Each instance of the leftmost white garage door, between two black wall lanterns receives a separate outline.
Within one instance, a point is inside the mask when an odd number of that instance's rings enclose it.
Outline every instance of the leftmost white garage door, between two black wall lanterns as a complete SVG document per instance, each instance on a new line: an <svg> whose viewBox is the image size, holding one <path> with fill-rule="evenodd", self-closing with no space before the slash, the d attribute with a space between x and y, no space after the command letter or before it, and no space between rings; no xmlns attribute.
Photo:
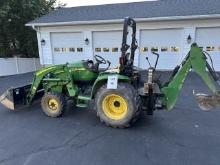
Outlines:
<svg viewBox="0 0 220 165"><path fill-rule="evenodd" d="M54 64L84 59L82 33L51 33Z"/></svg>

